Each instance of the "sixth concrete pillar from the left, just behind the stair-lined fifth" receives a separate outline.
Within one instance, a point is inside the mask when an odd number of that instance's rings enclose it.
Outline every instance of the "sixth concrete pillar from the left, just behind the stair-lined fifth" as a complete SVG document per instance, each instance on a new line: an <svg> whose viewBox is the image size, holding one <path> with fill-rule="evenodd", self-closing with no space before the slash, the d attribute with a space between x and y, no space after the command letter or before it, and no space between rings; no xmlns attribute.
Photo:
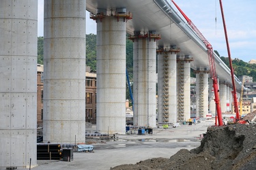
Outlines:
<svg viewBox="0 0 256 170"><path fill-rule="evenodd" d="M177 57L177 121L190 119L190 56Z"/></svg>

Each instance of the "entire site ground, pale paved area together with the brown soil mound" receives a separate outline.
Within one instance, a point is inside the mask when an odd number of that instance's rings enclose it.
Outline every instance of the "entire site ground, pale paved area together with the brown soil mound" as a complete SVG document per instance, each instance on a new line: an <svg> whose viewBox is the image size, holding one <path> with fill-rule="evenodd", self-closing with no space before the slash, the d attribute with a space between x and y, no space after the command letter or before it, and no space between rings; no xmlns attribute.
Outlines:
<svg viewBox="0 0 256 170"><path fill-rule="evenodd" d="M207 135L202 137L206 131L208 131ZM87 141L94 146L94 152L74 152L74 160L70 162L38 160L38 167L33 169L144 170L255 169L256 167L254 124L216 127L214 120L205 120L176 128L159 127L153 129L152 135L117 135L117 138L109 141L89 139Z"/></svg>

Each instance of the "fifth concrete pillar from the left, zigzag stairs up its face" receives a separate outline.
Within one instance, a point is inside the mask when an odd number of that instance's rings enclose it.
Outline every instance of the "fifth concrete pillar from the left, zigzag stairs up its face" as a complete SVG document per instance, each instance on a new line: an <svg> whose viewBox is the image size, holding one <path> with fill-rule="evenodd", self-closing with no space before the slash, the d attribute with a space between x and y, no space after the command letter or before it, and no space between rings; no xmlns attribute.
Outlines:
<svg viewBox="0 0 256 170"><path fill-rule="evenodd" d="M175 46L158 49L158 122L177 122L177 61Z"/></svg>

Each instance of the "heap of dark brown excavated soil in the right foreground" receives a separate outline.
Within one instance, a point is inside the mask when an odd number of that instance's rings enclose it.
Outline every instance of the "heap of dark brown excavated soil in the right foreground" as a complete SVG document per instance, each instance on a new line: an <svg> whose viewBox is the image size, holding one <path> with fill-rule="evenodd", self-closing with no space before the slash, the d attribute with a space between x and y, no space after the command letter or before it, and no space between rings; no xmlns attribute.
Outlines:
<svg viewBox="0 0 256 170"><path fill-rule="evenodd" d="M171 158L151 158L111 168L122 169L256 169L256 125L211 126L198 148L182 149Z"/></svg>

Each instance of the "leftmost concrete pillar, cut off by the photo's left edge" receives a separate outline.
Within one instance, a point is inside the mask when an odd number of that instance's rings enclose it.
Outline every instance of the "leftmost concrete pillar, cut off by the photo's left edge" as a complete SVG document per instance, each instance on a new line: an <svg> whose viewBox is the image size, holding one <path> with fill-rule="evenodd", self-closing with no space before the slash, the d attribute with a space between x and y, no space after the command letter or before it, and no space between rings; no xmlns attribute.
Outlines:
<svg viewBox="0 0 256 170"><path fill-rule="evenodd" d="M0 2L0 169L35 167L38 1Z"/></svg>

